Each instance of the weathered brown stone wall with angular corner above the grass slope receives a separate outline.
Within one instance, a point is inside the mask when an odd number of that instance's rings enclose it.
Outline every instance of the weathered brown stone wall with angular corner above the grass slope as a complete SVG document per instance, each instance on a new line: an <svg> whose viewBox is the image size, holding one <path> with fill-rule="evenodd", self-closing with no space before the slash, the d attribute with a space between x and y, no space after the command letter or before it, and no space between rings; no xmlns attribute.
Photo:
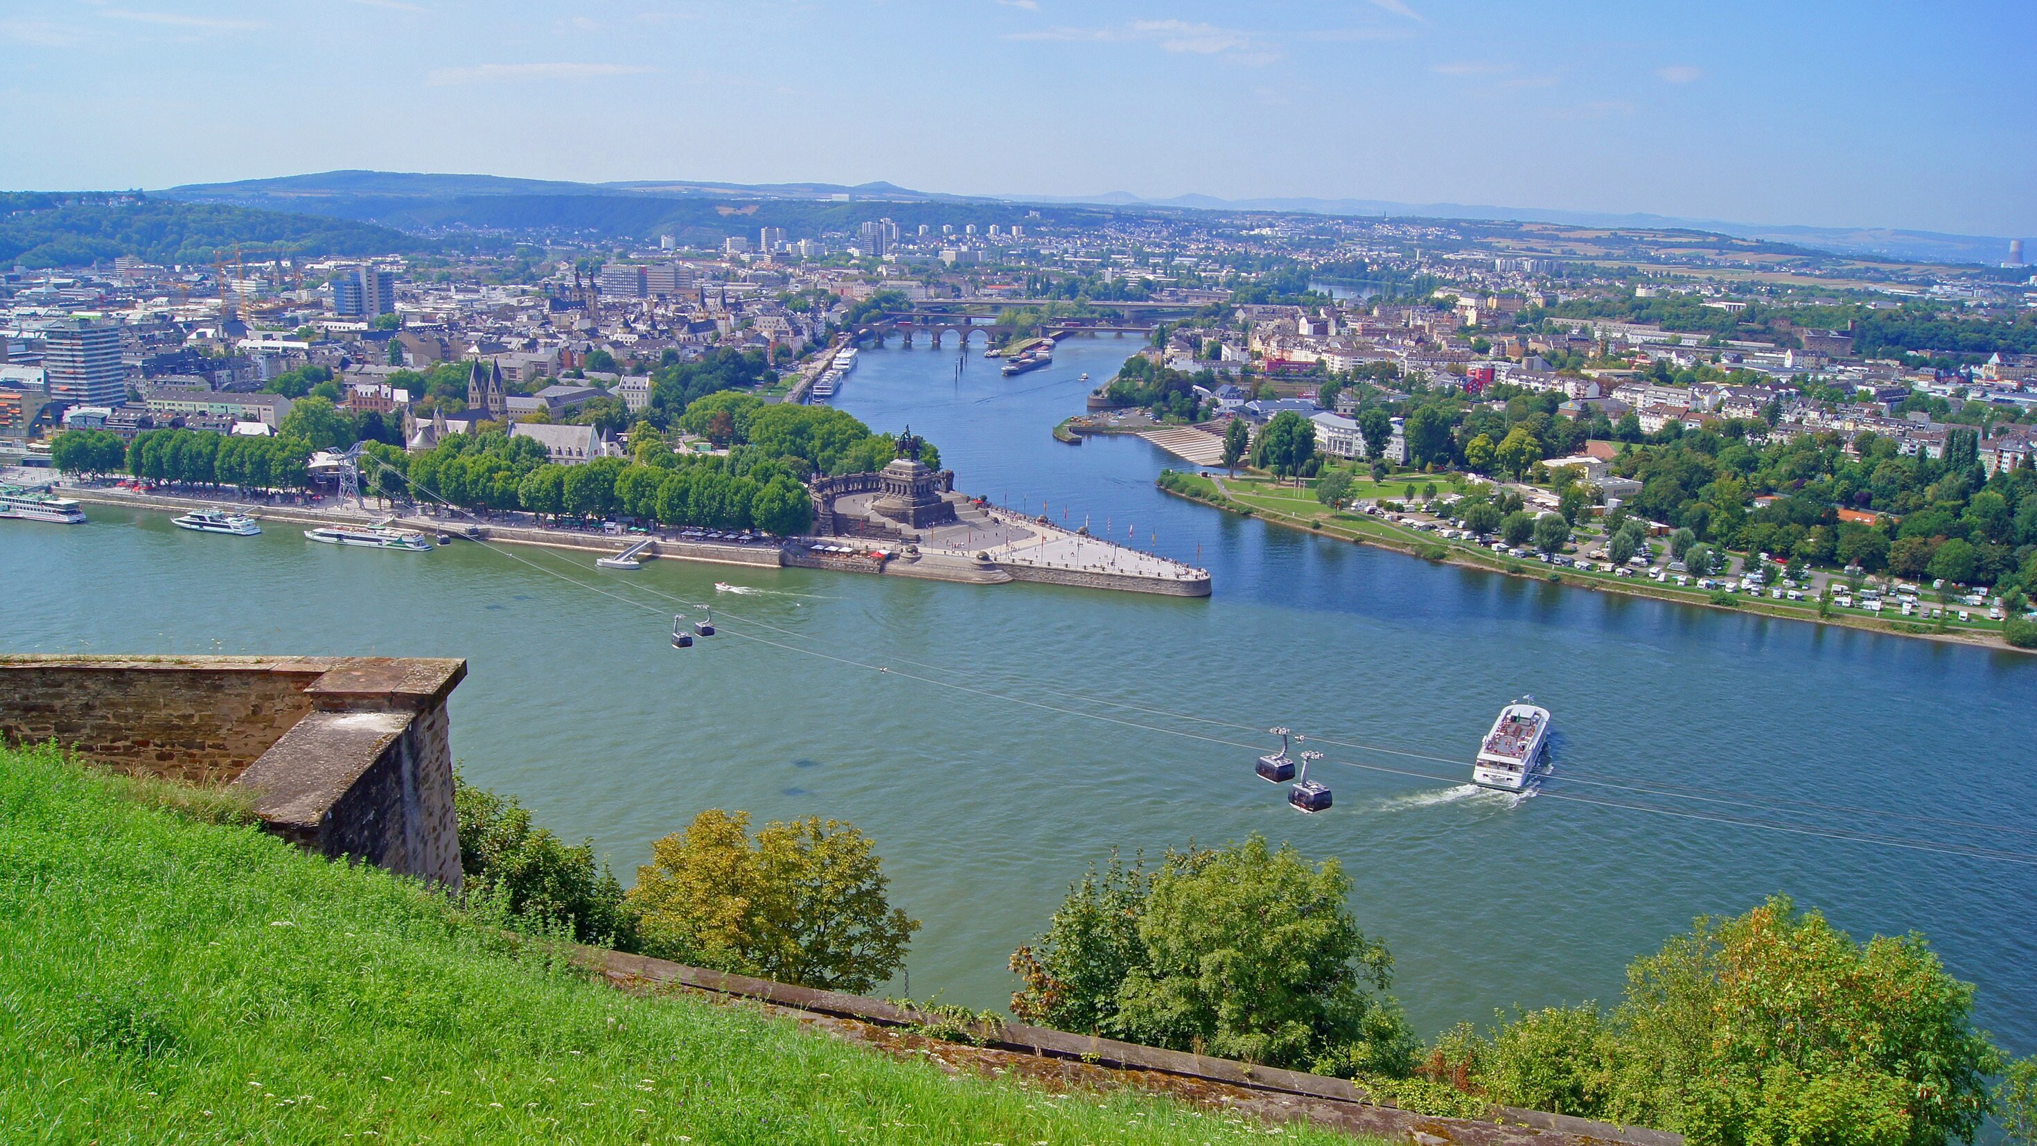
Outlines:
<svg viewBox="0 0 2037 1146"><path fill-rule="evenodd" d="M269 830L460 885L446 698L462 660L0 655L0 737L255 798Z"/></svg>

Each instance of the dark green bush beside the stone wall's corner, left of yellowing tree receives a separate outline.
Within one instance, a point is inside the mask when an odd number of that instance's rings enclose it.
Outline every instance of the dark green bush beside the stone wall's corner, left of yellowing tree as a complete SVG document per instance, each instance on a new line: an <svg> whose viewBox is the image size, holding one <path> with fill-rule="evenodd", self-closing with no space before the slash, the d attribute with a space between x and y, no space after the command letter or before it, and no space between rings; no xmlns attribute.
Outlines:
<svg viewBox="0 0 2037 1146"><path fill-rule="evenodd" d="M513 796L475 788L458 773L452 784L466 896L501 896L513 918L562 924L581 942L631 947L623 890L595 863L593 841L570 847L534 826Z"/></svg>

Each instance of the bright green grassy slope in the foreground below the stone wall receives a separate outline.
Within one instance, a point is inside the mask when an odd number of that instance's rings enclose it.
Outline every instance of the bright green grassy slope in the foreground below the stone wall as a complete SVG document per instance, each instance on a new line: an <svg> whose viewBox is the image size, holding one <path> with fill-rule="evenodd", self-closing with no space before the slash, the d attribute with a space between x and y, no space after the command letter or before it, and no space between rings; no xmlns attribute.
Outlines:
<svg viewBox="0 0 2037 1146"><path fill-rule="evenodd" d="M228 800L0 749L4 1142L1230 1142L613 991ZM1287 1128L1302 1142L1348 1142Z"/></svg>

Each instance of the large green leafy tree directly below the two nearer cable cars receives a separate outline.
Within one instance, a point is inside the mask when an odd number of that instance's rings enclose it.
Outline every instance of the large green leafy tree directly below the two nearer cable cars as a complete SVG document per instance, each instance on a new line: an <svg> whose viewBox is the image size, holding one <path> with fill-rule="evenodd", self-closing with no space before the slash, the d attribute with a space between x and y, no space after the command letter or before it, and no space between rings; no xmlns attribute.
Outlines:
<svg viewBox="0 0 2037 1146"><path fill-rule="evenodd" d="M1406 1073L1393 959L1348 896L1334 859L1310 865L1259 835L1169 851L1151 875L1112 863L1012 955L1012 1014L1249 1063Z"/></svg>

